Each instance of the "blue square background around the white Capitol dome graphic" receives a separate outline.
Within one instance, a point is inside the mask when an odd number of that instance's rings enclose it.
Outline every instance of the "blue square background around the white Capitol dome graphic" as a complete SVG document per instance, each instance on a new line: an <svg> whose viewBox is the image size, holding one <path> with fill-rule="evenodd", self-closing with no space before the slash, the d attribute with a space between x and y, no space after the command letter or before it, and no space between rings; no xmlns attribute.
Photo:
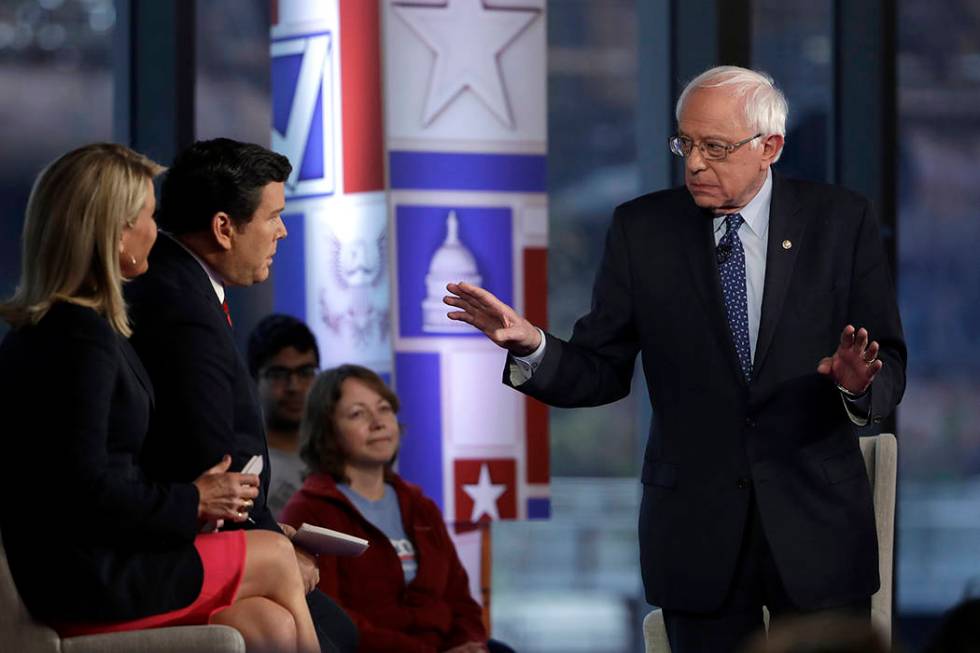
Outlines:
<svg viewBox="0 0 980 653"><path fill-rule="evenodd" d="M483 287L505 304L514 301L511 210L501 207L398 206L398 322L403 337L484 337L476 330L460 335L422 330L425 277L436 250L446 239L446 218L456 212L459 240L476 259ZM453 281L458 281L454 279ZM446 311L451 310L448 306Z"/></svg>

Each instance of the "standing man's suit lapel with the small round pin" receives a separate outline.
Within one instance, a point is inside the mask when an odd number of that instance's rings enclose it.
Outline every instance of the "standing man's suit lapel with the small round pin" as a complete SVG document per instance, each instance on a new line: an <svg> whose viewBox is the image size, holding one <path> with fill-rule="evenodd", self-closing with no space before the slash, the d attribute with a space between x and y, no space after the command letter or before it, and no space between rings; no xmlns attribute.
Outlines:
<svg viewBox="0 0 980 653"><path fill-rule="evenodd" d="M762 292L762 318L753 362L752 377L758 378L772 345L776 326L783 312L786 291L793 278L797 254L803 245L806 225L812 217L801 211L793 186L773 175L772 204L769 208L769 242L766 246L766 279ZM788 247L786 246L788 244Z"/></svg>

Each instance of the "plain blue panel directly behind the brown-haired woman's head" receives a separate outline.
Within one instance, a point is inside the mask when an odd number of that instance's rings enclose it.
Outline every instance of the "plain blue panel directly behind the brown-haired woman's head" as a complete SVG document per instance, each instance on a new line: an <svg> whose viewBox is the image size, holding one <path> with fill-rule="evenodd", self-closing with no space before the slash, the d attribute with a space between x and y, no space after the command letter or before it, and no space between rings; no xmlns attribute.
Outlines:
<svg viewBox="0 0 980 653"><path fill-rule="evenodd" d="M396 353L395 379L401 402L398 421L405 425L398 473L444 509L439 355Z"/></svg>

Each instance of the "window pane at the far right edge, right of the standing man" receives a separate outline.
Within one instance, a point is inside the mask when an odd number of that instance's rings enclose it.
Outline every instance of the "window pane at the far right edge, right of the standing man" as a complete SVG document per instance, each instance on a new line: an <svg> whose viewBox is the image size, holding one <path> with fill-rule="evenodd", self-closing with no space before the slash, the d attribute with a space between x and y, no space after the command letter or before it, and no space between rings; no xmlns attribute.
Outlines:
<svg viewBox="0 0 980 653"><path fill-rule="evenodd" d="M980 593L980 7L899 3L898 604Z"/></svg>

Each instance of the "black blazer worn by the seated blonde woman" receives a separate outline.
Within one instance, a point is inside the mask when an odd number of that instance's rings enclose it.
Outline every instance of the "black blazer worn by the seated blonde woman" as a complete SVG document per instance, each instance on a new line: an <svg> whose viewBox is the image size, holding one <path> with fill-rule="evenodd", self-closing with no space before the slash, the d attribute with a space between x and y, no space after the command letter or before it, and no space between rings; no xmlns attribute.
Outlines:
<svg viewBox="0 0 980 653"><path fill-rule="evenodd" d="M152 402L129 343L90 308L55 304L0 345L0 529L35 616L134 619L197 597L197 490L137 464Z"/></svg>

